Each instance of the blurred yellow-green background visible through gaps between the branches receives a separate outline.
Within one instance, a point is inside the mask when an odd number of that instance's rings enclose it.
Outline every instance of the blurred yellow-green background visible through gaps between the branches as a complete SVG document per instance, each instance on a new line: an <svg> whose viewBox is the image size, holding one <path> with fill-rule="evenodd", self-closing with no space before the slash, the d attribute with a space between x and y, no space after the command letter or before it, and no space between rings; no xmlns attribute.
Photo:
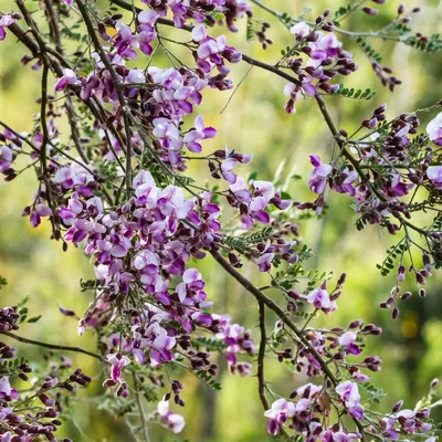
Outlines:
<svg viewBox="0 0 442 442"><path fill-rule="evenodd" d="M14 10L11 0L1 0L0 3L4 11ZM32 9L32 2L29 3ZM273 8L294 17L301 13L304 3L309 6L311 2L269 1ZM307 18L314 19L325 8L339 4L335 0L317 0L312 4L313 11ZM361 13L355 14L346 21L346 28L379 29L394 17L398 4L398 1L390 0L380 8L381 13L376 19ZM417 1L409 6L422 7L422 12L413 20L414 29L430 35L440 30L442 2ZM103 2L103 8L106 7ZM229 34L229 43L254 57L274 63L280 50L291 43L291 36L281 23L271 19L264 11L254 9L256 19L271 22L269 36L274 44L264 51L259 42L246 42L244 22L240 24L236 34ZM43 22L41 25L44 28ZM170 30L165 31L170 34ZM179 31L172 33L178 38L186 38ZM355 48L354 42L349 39L343 41L346 48L354 52L354 57L360 66L356 74L344 78L346 86L370 87L378 93L370 102L327 98L338 127L346 127L351 133L382 103L388 103L387 114L392 117L403 110L429 106L442 97L441 54L428 55L406 45L372 40L372 45L383 55L383 63L390 65L403 82L397 92L391 94L380 86L370 63ZM32 129L33 116L39 110L34 101L39 97L40 74L29 66L21 66L20 59L25 53L11 34L0 44L0 119L19 131ZM177 53L180 53L179 50ZM139 63L138 61L138 66L143 67ZM155 63L167 65L161 54ZM231 76L235 84L244 77L248 70L246 64L232 66ZM219 135L210 144L207 143L204 149L210 152L227 145L242 152L253 152L254 161L249 168L243 166L242 172L248 175L256 171L260 179L272 180L275 170L278 170L282 180L293 173L301 175L302 181L287 180L286 190L296 200L308 200L313 198L306 185L311 171L308 154L315 152L327 158L333 141L314 101L298 103L295 115L284 113L284 84L283 80L254 67L222 114L220 113L231 92L206 92L200 109L206 115L206 123L217 127ZM427 124L433 116L422 115L422 123ZM207 173L201 168L194 168L192 172L201 182L207 179ZM62 305L80 314L91 302L91 294L80 291L80 278L87 280L92 275L87 259L73 248L63 253L61 244L49 241L48 223L34 230L21 218L23 207L31 201L35 188L34 178L33 172L29 171L11 183L0 181L0 274L8 280L8 286L0 292L1 305L17 304L24 295L30 295L29 307L32 315L43 315L44 320L24 325L21 335L94 348L95 337L87 333L80 338L75 320L59 313L59 305ZM376 227L367 228L361 233L357 232L354 225L356 218L347 196L330 194L328 202L330 209L327 217L299 222L302 236L315 251L309 265L334 271L337 275L343 271L348 274L345 294L339 299L340 308L327 318L327 325L346 324L361 317L367 323L373 322L382 326L382 336L369 339L367 348L367 352L377 354L383 360L382 371L373 376L373 381L389 392L380 408L388 409L400 398L404 399L407 406L413 407L427 392L429 382L435 377L442 377L441 275L428 283L427 298L413 296L402 305L401 316L393 323L389 312L378 307L379 303L387 298L393 276L382 277L376 269L376 263L383 260L386 249L392 244L391 239ZM229 313L235 322L245 324L257 336L256 306L253 298L213 262L207 261L196 265L201 269L208 281L208 294L215 302L215 311ZM254 266L245 265L243 271L257 284L265 282L263 275L256 274ZM408 284L409 288L415 292L414 283L410 281ZM267 315L269 330L274 322L275 318ZM35 358L43 357L44 354L42 349L29 346L20 349ZM93 373L96 382L75 399L72 417L63 427L62 433L75 441L131 441L133 438L126 431L124 422L99 409L104 401L101 387L102 367L88 358L70 356L75 365ZM183 399L187 407L180 411L183 411L186 417L186 429L179 436L152 429L154 440L270 440L265 433L263 410L257 400L255 377L231 377L221 364L219 378L222 390L214 392L190 373L182 376L186 381ZM292 391L305 382L302 376L287 372L275 360L267 362L267 378L275 391ZM434 415L441 421L441 412L435 411Z"/></svg>

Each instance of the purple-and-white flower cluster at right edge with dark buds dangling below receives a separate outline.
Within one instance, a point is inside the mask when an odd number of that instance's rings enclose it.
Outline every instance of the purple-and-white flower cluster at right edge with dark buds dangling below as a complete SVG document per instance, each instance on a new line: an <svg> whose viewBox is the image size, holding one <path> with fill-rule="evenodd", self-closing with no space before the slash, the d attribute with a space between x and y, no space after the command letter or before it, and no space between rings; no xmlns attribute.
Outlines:
<svg viewBox="0 0 442 442"><path fill-rule="evenodd" d="M325 192L329 188L354 197L354 207L360 214L360 228L366 223L380 224L392 235L404 231L406 236L398 243L398 249L394 248L402 256L398 265L397 285L389 298L381 304L385 308L393 307L392 316L397 318L399 309L396 299L400 295L399 283L404 281L408 272L412 273L419 286L419 294L423 297L425 291L422 286L432 275L432 267L439 266L441 257L441 235L436 229L427 232L409 220L417 208L428 207L432 210L442 197L442 167L439 166L438 149L428 147L429 141L435 146L440 144L442 114L428 124L427 134L419 135L420 120L415 114L402 114L385 124L386 109L386 105L379 106L370 118L361 123L361 128L367 128L370 133L359 143L352 143L348 139L348 134L341 130L340 136L346 139L340 140L340 146L347 143L352 146L347 151L348 161L323 164L318 156L311 156L313 171L308 186L318 197L314 203L302 203L298 208L314 209L320 214L325 204ZM421 155L421 149L425 150L425 155ZM362 173L361 167L368 172ZM419 188L425 189L428 202L413 201ZM412 245L410 232L413 231L428 239L429 248L421 250L422 267L414 263L409 267L402 264L406 250ZM391 262L387 261L387 264L391 265ZM411 293L406 292L401 299L408 299L410 296Z"/></svg>

